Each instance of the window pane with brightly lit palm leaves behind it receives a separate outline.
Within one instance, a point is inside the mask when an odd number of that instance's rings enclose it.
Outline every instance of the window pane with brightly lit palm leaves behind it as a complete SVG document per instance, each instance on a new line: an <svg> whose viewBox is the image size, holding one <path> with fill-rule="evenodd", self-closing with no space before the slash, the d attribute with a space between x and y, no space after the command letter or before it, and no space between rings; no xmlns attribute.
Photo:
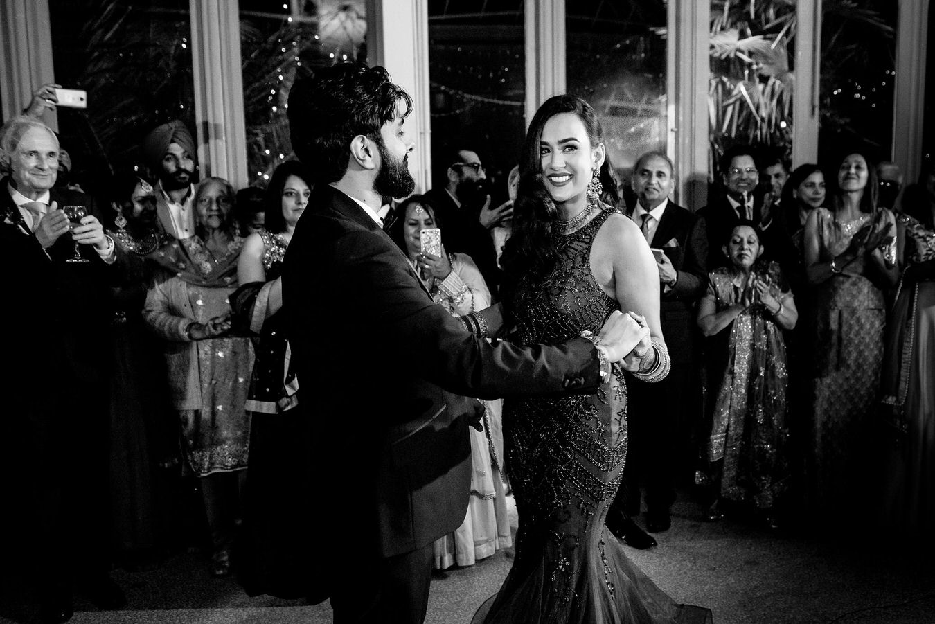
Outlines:
<svg viewBox="0 0 935 624"><path fill-rule="evenodd" d="M794 2L712 0L708 109L710 171L736 144L788 160L792 153Z"/></svg>

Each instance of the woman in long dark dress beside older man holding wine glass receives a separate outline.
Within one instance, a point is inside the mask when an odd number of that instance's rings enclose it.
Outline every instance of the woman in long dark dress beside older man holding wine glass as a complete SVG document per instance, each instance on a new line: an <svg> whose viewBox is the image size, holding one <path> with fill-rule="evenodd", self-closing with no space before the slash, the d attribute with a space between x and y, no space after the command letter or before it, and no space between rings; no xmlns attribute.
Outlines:
<svg viewBox="0 0 935 624"><path fill-rule="evenodd" d="M150 181L124 175L113 183L117 212L108 234L124 252L121 279L111 287L110 493L114 549L128 570L161 558L169 519L160 465L176 465L179 428L165 399L165 362L141 312L158 264L147 256L171 240L155 227Z"/></svg>

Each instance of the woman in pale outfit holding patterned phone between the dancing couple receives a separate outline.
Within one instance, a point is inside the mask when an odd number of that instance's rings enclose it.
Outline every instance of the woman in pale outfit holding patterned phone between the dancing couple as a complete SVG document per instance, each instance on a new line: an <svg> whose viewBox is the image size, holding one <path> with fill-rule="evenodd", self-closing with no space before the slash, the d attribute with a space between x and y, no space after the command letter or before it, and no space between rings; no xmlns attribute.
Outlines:
<svg viewBox="0 0 935 624"><path fill-rule="evenodd" d="M490 306L490 290L481 271L468 254L446 253L442 236L441 254L422 251L422 232L439 227L435 209L424 196L410 196L399 207L401 218L391 231L396 244L409 257L413 268L432 298L453 316L464 316ZM450 228L442 229L442 235ZM419 265L420 254L427 260ZM468 514L461 526L434 545L435 568L474 565L499 548L512 545L510 517L504 494L503 402L483 400L483 431L469 429L471 483Z"/></svg>

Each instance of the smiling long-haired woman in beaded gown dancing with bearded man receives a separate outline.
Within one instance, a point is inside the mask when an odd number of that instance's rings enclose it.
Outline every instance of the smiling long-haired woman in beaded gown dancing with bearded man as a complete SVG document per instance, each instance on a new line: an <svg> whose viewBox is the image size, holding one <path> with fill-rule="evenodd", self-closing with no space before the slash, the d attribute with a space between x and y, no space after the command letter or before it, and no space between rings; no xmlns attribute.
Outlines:
<svg viewBox="0 0 935 624"><path fill-rule="evenodd" d="M556 95L525 139L504 301L522 344L555 343L601 327L615 310L647 327L588 395L512 399L504 438L520 527L516 558L475 622L710 622L673 602L604 526L626 460L626 384L669 371L659 325L659 278L640 228L601 203L600 123L581 98Z"/></svg>

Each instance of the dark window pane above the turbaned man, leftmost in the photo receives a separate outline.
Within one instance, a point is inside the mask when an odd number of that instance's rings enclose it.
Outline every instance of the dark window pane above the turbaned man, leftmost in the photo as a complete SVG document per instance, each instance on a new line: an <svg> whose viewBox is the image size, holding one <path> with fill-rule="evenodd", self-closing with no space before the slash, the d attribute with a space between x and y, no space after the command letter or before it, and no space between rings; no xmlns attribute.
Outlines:
<svg viewBox="0 0 935 624"><path fill-rule="evenodd" d="M139 144L155 125L180 119L194 134L188 0L50 0L49 10L55 80L88 92L87 109L58 109L85 191L141 163Z"/></svg>

